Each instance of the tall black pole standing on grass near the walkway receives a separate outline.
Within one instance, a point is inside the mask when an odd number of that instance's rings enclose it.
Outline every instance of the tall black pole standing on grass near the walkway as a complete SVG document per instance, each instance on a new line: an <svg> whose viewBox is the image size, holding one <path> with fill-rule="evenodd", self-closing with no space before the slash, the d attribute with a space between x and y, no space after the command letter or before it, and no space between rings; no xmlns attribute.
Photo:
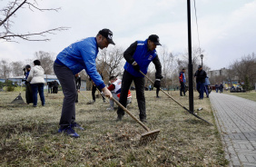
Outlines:
<svg viewBox="0 0 256 167"><path fill-rule="evenodd" d="M192 29L191 29L191 1L187 0L187 15L188 15L188 48L189 48L189 103L190 112L193 113L193 73L192 73Z"/></svg>

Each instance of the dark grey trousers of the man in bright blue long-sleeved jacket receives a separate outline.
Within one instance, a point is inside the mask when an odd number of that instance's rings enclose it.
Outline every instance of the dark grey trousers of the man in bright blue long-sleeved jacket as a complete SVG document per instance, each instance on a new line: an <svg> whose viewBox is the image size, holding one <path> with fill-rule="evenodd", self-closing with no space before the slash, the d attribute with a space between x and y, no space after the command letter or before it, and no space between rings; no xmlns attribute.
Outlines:
<svg viewBox="0 0 256 167"><path fill-rule="evenodd" d="M76 87L74 81L74 74L64 65L54 63L54 73L62 85L64 93L64 103L60 125L62 128L70 126L75 121L75 97Z"/></svg>

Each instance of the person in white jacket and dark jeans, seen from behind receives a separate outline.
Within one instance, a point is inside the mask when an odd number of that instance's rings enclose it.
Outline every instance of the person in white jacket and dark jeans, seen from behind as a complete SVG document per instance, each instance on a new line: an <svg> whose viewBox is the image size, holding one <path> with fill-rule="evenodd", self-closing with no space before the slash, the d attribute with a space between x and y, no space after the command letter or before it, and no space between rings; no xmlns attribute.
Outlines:
<svg viewBox="0 0 256 167"><path fill-rule="evenodd" d="M41 66L39 60L34 60L34 67L30 71L27 82L30 82L32 93L33 93L33 106L37 106L37 93L39 92L39 96L42 102L42 105L45 105L44 100L44 68Z"/></svg>

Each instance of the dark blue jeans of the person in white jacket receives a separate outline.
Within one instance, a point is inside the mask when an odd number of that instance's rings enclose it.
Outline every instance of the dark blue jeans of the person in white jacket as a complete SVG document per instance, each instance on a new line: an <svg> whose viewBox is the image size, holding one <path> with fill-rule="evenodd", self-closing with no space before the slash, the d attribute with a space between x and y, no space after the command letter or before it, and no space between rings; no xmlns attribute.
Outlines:
<svg viewBox="0 0 256 167"><path fill-rule="evenodd" d="M44 83L34 83L34 84L31 84L31 88L32 88L32 93L33 93L33 104L37 105L37 92L39 92L42 105L44 105L45 104L45 100L44 100Z"/></svg>

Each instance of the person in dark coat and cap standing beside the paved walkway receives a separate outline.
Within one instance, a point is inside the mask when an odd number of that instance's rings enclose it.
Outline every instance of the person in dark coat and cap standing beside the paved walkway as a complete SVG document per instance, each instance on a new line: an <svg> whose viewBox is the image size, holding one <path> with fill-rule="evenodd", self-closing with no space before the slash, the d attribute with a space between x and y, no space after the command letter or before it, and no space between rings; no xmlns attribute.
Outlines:
<svg viewBox="0 0 256 167"><path fill-rule="evenodd" d="M196 77L196 89L198 91L199 99L203 99L203 92L204 92L204 83L206 78L206 72L202 70L202 65L198 65L198 70L195 72L194 77Z"/></svg>

